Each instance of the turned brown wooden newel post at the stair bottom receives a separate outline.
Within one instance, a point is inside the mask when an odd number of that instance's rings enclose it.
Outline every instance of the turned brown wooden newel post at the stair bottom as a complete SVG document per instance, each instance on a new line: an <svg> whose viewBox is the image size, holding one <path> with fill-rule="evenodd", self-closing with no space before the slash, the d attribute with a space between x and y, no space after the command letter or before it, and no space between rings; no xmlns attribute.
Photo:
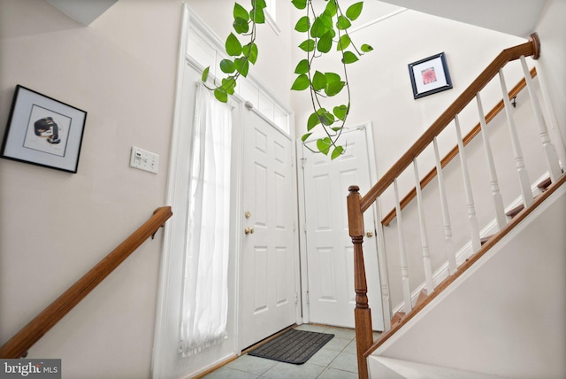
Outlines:
<svg viewBox="0 0 566 379"><path fill-rule="evenodd" d="M354 286L356 287L356 350L357 370L360 379L367 379L368 366L363 354L373 343L371 329L371 309L368 305L368 285L365 280L363 265L363 213L360 205L361 196L358 186L350 186L348 195L348 229L354 244Z"/></svg>

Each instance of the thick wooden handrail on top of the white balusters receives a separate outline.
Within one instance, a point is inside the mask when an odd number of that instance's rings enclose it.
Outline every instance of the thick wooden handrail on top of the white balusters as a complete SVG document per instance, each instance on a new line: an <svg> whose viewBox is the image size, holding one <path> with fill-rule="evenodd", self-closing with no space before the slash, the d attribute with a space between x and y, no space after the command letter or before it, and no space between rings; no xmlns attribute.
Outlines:
<svg viewBox="0 0 566 379"><path fill-rule="evenodd" d="M540 43L538 35L532 34L529 42L516 45L512 48L502 50L501 53L493 59L492 63L486 67L482 73L479 74L475 81L472 81L470 86L465 89L454 103L447 107L440 117L434 121L430 128L428 128L423 135L421 135L416 143L405 152L401 159L394 163L394 165L383 175L371 190L362 197L360 205L362 206L362 213L365 212L375 200L394 182L394 179L407 168L424 149L432 143L434 137L440 134L444 128L448 126L455 115L462 112L468 103L470 103L476 94L486 87L487 83L491 81L501 67L505 66L508 62L524 57L538 58L540 51Z"/></svg>

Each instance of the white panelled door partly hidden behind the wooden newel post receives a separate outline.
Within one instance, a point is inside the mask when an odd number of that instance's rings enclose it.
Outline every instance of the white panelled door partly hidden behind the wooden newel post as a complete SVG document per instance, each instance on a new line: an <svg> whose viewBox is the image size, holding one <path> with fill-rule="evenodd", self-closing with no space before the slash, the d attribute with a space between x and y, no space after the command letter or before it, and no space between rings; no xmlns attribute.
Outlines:
<svg viewBox="0 0 566 379"><path fill-rule="evenodd" d="M368 129L343 133L345 154L330 160L303 147L305 232L309 285L310 322L354 328L354 247L348 236L348 187L361 192L371 188ZM314 143L314 142L313 142ZM375 177L375 175L373 175ZM371 237L363 243L372 326L383 330L378 252L373 213L364 213Z"/></svg>

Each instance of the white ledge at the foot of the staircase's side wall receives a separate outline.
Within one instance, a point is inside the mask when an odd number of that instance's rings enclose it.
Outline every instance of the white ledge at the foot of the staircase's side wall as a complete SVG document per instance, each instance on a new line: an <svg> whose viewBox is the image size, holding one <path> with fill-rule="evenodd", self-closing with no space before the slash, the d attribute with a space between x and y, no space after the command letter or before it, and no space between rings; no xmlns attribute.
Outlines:
<svg viewBox="0 0 566 379"><path fill-rule="evenodd" d="M409 360L371 355L368 370L372 378L387 379L501 379L501 376L477 373L451 367L433 366Z"/></svg>

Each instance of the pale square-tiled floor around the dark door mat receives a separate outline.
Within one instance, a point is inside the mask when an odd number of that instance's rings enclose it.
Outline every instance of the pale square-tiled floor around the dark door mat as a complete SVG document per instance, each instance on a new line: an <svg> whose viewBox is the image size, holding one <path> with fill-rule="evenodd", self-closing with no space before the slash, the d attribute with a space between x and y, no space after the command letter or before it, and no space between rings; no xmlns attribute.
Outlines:
<svg viewBox="0 0 566 379"><path fill-rule="evenodd" d="M354 329L303 324L296 329L330 333L334 337L302 365L244 354L204 376L204 379L357 379Z"/></svg>

